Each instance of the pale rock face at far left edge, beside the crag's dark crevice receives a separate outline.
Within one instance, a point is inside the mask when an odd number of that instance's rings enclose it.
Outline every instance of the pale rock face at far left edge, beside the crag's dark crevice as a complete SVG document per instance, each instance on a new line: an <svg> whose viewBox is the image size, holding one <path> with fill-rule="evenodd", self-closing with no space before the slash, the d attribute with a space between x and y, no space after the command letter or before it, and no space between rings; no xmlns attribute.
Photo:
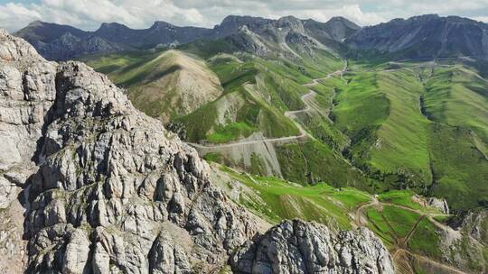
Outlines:
<svg viewBox="0 0 488 274"><path fill-rule="evenodd" d="M55 73L55 63L0 30L0 273L20 273L27 260L20 201L37 170L32 159L54 102Z"/></svg>

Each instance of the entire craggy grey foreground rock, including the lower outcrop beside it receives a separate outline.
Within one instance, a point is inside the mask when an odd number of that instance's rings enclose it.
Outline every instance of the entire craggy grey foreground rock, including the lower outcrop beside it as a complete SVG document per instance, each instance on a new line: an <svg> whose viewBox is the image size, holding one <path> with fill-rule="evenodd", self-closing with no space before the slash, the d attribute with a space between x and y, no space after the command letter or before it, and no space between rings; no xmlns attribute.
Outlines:
<svg viewBox="0 0 488 274"><path fill-rule="evenodd" d="M0 31L0 273L209 273L229 258L242 273L393 272L365 230L286 221L256 236L208 172L107 77Z"/></svg>

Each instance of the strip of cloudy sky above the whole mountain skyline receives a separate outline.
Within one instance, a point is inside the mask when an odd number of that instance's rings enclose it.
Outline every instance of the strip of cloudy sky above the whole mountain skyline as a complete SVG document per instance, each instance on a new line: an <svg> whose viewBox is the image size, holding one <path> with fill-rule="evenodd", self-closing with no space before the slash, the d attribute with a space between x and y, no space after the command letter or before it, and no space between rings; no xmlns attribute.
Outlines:
<svg viewBox="0 0 488 274"><path fill-rule="evenodd" d="M83 30L95 30L103 22L146 28L156 20L212 27L229 14L294 15L323 22L340 15L361 25L440 14L488 23L488 0L0 0L0 27L10 32L34 20L66 23Z"/></svg>

